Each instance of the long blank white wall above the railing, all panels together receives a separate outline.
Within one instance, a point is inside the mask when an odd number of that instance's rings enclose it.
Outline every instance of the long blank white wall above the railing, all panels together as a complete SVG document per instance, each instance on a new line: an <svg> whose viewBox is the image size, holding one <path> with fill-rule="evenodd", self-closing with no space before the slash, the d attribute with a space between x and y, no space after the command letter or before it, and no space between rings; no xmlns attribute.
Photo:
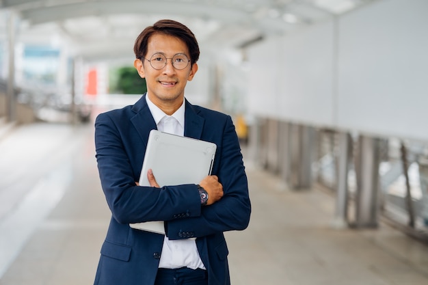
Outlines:
<svg viewBox="0 0 428 285"><path fill-rule="evenodd" d="M427 0L374 1L252 46L249 60L252 114L428 140Z"/></svg>

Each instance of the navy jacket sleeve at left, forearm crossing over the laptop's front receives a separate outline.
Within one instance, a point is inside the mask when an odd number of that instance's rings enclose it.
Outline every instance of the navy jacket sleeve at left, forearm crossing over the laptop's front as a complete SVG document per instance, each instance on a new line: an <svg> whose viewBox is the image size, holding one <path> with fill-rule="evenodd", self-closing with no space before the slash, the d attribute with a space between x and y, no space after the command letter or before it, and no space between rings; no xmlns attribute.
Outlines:
<svg viewBox="0 0 428 285"><path fill-rule="evenodd" d="M137 223L165 221L183 214L185 217L200 216L200 197L195 185L161 189L135 185L135 172L141 165L137 167L137 162L131 162L135 161L132 157L137 152L144 154L145 148L129 120L122 119L107 112L99 115L95 122L98 172L114 219L118 223Z"/></svg>

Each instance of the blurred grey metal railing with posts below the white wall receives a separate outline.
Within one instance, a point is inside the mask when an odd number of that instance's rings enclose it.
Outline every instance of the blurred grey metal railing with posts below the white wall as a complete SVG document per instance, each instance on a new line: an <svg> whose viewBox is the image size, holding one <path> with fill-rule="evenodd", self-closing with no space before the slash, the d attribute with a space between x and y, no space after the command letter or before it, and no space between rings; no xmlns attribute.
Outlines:
<svg viewBox="0 0 428 285"><path fill-rule="evenodd" d="M307 167L302 164L310 162L313 185L328 189L336 200L343 199L342 215L348 226L377 226L377 219L382 219L428 241L428 142L350 135L272 118L256 122L250 127L253 160L280 174L290 188L299 189L295 178L305 176L302 171ZM302 140L304 133L312 133L312 138ZM305 158L302 152L313 155ZM345 181L344 189L340 181ZM359 215L368 217L369 223L360 223Z"/></svg>

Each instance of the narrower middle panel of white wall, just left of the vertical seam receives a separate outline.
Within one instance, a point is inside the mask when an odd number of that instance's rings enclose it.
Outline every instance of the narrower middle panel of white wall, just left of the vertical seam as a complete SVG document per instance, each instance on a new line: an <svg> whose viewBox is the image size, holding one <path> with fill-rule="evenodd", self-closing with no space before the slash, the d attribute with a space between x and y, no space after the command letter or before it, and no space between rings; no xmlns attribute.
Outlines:
<svg viewBox="0 0 428 285"><path fill-rule="evenodd" d="M277 116L331 125L333 109L333 23L311 27L282 41Z"/></svg>

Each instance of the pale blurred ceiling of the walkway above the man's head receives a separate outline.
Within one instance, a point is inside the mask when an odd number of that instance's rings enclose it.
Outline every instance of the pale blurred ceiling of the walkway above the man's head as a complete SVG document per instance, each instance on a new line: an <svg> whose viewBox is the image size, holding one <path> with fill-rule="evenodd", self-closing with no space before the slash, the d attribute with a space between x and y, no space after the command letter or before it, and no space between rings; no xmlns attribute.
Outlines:
<svg viewBox="0 0 428 285"><path fill-rule="evenodd" d="M18 18L16 41L61 46L86 60L133 57L148 25L172 18L195 33L201 49L248 46L315 25L374 0L3 0ZM3 32L6 29L3 29Z"/></svg>

